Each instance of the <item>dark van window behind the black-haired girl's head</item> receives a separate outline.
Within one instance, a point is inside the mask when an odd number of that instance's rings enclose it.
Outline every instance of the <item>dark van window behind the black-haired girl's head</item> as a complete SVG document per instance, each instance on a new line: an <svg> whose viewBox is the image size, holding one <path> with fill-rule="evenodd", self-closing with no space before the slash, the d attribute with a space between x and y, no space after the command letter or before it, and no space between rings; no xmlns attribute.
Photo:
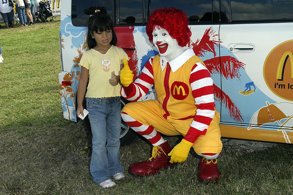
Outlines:
<svg viewBox="0 0 293 195"><path fill-rule="evenodd" d="M113 19L113 1L103 0L72 0L71 22L74 26L86 26L86 21L96 7L105 7L107 13Z"/></svg>

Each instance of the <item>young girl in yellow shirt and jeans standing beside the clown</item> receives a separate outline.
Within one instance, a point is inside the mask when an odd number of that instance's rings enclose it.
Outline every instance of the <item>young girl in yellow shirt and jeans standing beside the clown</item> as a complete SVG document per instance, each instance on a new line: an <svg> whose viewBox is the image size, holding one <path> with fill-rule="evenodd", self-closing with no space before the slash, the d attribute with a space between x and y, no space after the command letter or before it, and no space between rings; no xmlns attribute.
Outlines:
<svg viewBox="0 0 293 195"><path fill-rule="evenodd" d="M87 22L87 44L90 50L80 60L81 74L77 93L77 116L83 116L83 97L86 92L86 109L93 134L93 151L90 171L93 182L102 188L115 186L115 180L125 177L119 163L121 103L120 69L123 58L128 59L123 49L116 47L117 37L113 22L100 8ZM115 75L117 74L117 75Z"/></svg>

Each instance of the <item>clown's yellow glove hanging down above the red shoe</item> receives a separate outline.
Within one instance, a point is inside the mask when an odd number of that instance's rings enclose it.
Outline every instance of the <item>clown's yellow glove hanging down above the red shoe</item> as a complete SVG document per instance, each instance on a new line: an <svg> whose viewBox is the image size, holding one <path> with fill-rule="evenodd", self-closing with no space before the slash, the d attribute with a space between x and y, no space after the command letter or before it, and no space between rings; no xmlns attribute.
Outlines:
<svg viewBox="0 0 293 195"><path fill-rule="evenodd" d="M188 156L189 150L193 143L182 139L168 154L171 156L170 163L184 162Z"/></svg>

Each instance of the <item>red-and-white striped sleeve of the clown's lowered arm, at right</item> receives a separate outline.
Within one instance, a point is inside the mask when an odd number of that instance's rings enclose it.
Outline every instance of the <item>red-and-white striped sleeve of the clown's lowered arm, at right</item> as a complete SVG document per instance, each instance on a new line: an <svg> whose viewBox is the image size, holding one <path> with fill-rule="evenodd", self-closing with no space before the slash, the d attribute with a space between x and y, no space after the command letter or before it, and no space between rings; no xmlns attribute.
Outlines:
<svg viewBox="0 0 293 195"><path fill-rule="evenodd" d="M189 77L192 96L195 101L196 115L184 139L194 143L199 135L205 135L207 127L215 115L215 103L213 95L213 80L210 72L202 63L196 63Z"/></svg>

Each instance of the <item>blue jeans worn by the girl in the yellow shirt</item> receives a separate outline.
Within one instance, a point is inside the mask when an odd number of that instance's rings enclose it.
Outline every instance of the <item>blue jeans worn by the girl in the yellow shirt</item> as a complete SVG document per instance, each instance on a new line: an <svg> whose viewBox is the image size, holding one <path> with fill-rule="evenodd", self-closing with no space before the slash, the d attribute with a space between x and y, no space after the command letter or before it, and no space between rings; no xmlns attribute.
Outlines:
<svg viewBox="0 0 293 195"><path fill-rule="evenodd" d="M86 98L86 108L93 134L90 171L93 182L99 184L124 172L119 163L120 97Z"/></svg>

